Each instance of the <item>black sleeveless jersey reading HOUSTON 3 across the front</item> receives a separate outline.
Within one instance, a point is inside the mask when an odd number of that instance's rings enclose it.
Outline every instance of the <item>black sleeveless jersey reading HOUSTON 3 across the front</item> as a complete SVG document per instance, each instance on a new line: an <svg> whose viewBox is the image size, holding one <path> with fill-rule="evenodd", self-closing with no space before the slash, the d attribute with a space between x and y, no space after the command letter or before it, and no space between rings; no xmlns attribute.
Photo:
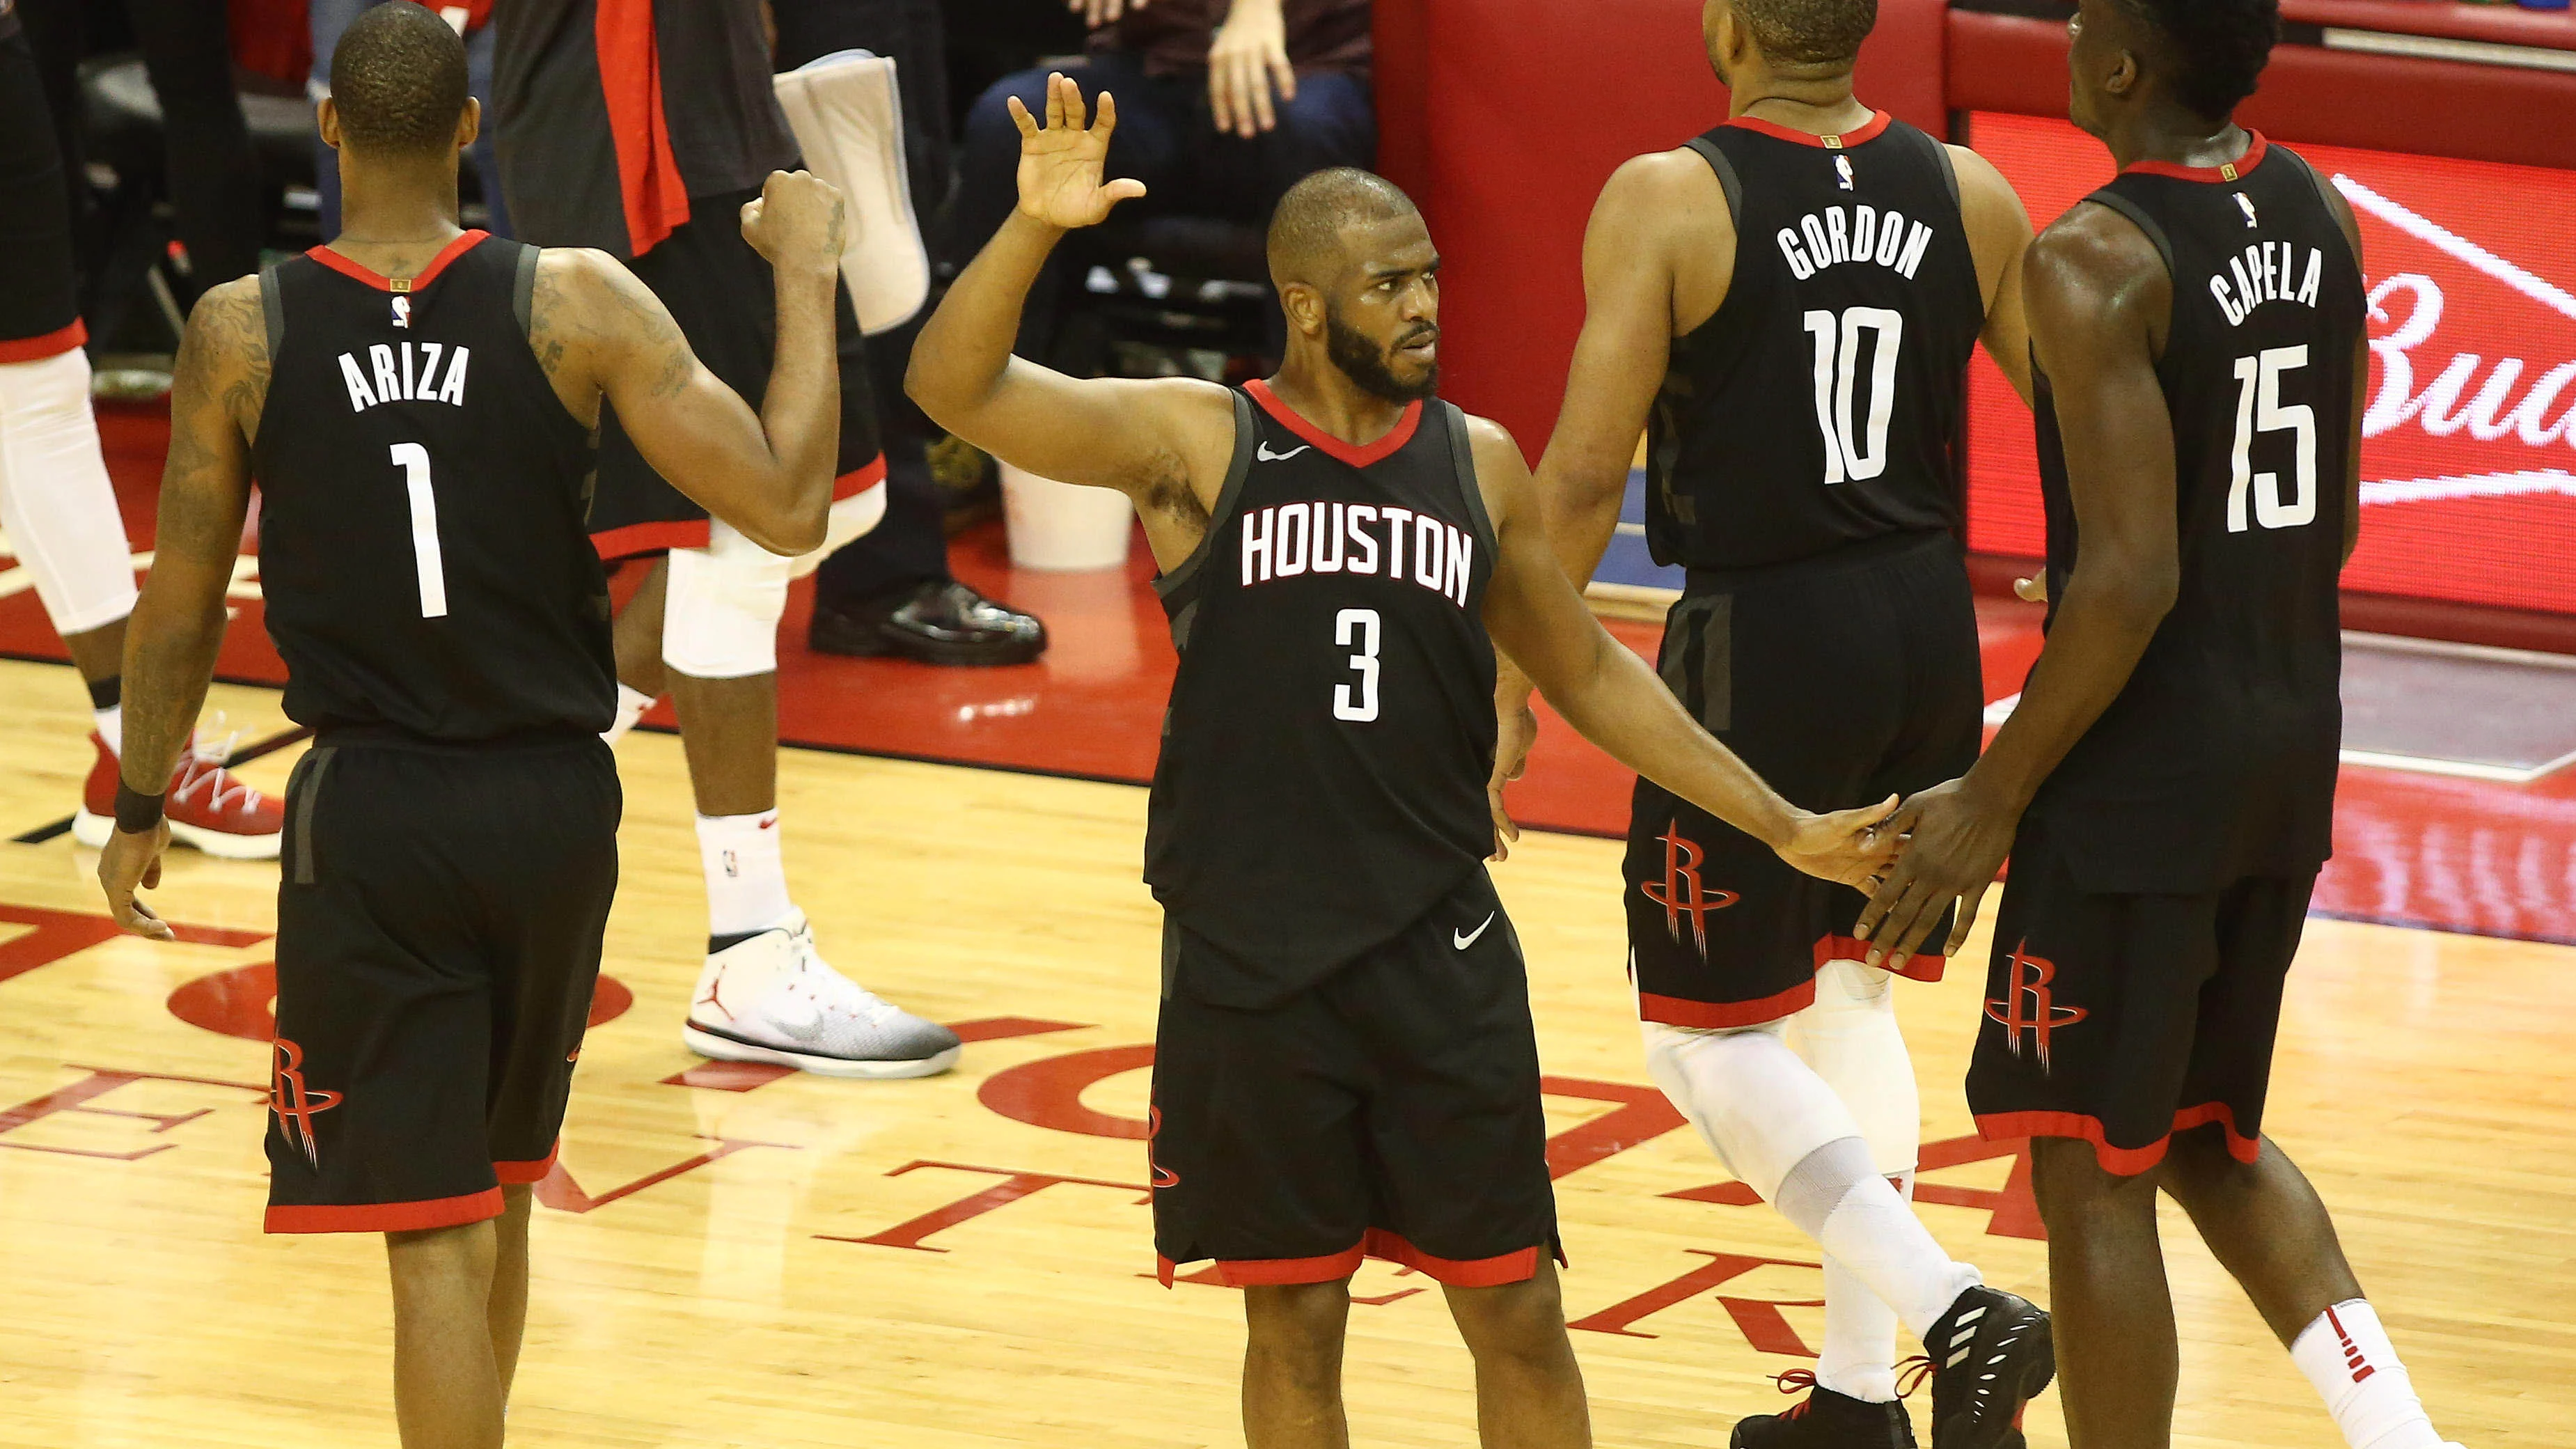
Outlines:
<svg viewBox="0 0 2576 1449"><path fill-rule="evenodd" d="M1492 578L1455 407L1414 402L1360 449L1260 382L1236 394L1208 536L1154 585L1180 673L1144 874L1231 964L1193 967L1190 995L1275 1003L1481 869Z"/></svg>

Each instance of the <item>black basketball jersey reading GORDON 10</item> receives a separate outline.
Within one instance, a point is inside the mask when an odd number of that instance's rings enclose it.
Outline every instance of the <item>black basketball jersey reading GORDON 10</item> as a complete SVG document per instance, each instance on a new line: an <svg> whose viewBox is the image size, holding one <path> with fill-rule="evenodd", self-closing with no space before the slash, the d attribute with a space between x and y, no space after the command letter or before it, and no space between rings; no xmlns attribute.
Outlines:
<svg viewBox="0 0 2576 1449"><path fill-rule="evenodd" d="M1947 147L1880 111L1842 137L1739 116L1690 150L1726 188L1736 271L1674 338L1654 400L1656 562L1765 567L1958 531L1986 302Z"/></svg>

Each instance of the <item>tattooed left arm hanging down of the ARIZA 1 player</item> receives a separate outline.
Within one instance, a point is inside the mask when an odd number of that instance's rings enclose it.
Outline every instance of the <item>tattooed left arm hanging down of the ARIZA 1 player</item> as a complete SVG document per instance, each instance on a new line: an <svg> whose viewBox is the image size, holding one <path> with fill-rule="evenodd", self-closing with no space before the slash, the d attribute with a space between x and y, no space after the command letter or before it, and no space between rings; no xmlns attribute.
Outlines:
<svg viewBox="0 0 2576 1449"><path fill-rule="evenodd" d="M152 575L126 621L126 732L118 750L116 835L98 856L108 915L167 941L137 887L160 884L170 825L160 797L178 753L193 745L214 652L224 645L224 590L250 511L250 436L268 394L260 278L216 286L188 315L170 379L170 459L162 464Z"/></svg>

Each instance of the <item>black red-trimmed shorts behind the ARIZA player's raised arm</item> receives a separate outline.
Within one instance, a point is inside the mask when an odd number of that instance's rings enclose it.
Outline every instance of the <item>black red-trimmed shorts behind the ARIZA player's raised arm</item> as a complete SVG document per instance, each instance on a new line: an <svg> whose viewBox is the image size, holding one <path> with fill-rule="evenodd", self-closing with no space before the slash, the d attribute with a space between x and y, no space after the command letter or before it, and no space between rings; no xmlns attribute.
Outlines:
<svg viewBox="0 0 2576 1449"><path fill-rule="evenodd" d="M755 410L770 389L770 361L778 348L778 291L770 263L742 240L742 204L760 188L724 196L690 196L688 222L670 237L629 260L672 322L688 338L706 371L742 394ZM832 500L853 498L886 480L886 454L876 433L876 394L868 382L868 348L850 307L850 286L835 281L832 307L840 333L840 464ZM590 541L608 562L665 549L706 547L706 508L690 503L644 456L618 425L613 407L600 407L600 472L590 495Z"/></svg>

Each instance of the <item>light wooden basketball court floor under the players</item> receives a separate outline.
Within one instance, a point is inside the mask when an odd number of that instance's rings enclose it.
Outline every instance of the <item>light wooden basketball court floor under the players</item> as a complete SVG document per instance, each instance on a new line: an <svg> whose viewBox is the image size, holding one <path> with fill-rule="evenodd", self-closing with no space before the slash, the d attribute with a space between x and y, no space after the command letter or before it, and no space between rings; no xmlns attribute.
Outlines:
<svg viewBox="0 0 2576 1449"><path fill-rule="evenodd" d="M54 817L88 768L77 681L0 663L0 810ZM214 704L247 737L283 727L273 691ZM278 789L291 758L245 773ZM703 941L680 745L636 735L618 763L613 1016L541 1189L513 1441L1239 1444L1236 1294L1149 1276L1144 792L786 750L791 877L827 954L971 1039L953 1075L845 1083L677 1044ZM1723 1446L1736 1415L1790 1403L1765 1374L1811 1361L1821 1276L1646 1085L1615 851L1530 835L1499 869L1551 1073L1566 1302L1605 1446ZM276 869L173 853L157 905L191 938L152 944L108 933L93 866L70 835L0 848L0 1446L394 1444L381 1243L258 1230ZM1924 1220L2045 1299L2020 1155L1971 1137L1958 1091L1978 975L1904 987ZM2293 977L2272 1129L2470 1449L2561 1446L2576 1410L2568 1021L2568 946L2316 920ZM2166 1227L2177 1444L2336 1444ZM1471 1444L1440 1294L1381 1263L1352 1292L1355 1441ZM2063 1444L2056 1395L2030 1441Z"/></svg>

